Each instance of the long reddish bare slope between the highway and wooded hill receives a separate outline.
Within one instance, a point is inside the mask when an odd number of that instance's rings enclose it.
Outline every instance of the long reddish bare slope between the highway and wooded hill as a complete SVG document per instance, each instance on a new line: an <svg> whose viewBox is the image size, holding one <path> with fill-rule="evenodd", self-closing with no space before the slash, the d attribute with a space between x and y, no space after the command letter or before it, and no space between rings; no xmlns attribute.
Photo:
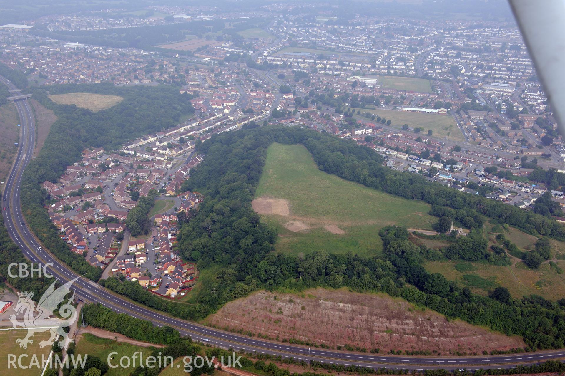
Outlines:
<svg viewBox="0 0 565 376"><path fill-rule="evenodd" d="M478 352L524 346L460 320L447 321L431 309L416 307L383 293L355 293L346 288L310 289L302 293L257 291L226 303L205 320L218 328L250 331L271 339L299 339L390 350Z"/></svg>

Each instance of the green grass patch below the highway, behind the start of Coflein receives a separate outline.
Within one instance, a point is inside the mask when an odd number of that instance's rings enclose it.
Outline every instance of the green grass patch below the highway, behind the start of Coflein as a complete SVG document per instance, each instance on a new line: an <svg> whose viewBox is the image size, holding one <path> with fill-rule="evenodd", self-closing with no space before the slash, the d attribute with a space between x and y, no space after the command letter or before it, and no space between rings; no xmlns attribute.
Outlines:
<svg viewBox="0 0 565 376"><path fill-rule="evenodd" d="M80 338L79 342L76 344L75 354L96 356L106 363L108 355L115 351L118 352L118 355L114 355L110 362L113 365L119 365L120 358L123 356L132 360L133 353L138 351L142 353L142 356L145 359L147 356L151 355L153 350L153 347L134 346L133 344L118 342L113 339L100 338L93 334L85 333L82 334L82 338ZM140 355L138 354L137 357L139 358ZM139 359L137 359L137 365L139 365ZM106 376L127 376L131 374L134 369L135 367L132 364L130 364L129 368L123 368L121 366L118 368L110 368L108 369Z"/></svg>

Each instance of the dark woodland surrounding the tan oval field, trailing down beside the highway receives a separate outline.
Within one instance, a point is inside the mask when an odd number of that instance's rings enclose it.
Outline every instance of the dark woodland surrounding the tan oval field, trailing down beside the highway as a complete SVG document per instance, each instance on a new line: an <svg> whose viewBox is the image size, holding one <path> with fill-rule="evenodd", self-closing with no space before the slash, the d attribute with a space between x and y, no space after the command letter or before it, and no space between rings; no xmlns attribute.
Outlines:
<svg viewBox="0 0 565 376"><path fill-rule="evenodd" d="M58 120L51 126L44 147L25 168L21 182L21 204L26 220L36 235L59 259L76 272L92 280L102 275L81 255L73 254L49 220L44 207L49 195L40 184L56 182L68 165L79 161L88 147L118 149L125 141L177 125L182 116L194 112L189 95L180 95L175 86L115 87L114 85L57 85L50 94L94 92L120 95L123 101L114 107L92 112L76 105L58 105L49 99L46 89L33 92L33 98L53 109Z"/></svg>

